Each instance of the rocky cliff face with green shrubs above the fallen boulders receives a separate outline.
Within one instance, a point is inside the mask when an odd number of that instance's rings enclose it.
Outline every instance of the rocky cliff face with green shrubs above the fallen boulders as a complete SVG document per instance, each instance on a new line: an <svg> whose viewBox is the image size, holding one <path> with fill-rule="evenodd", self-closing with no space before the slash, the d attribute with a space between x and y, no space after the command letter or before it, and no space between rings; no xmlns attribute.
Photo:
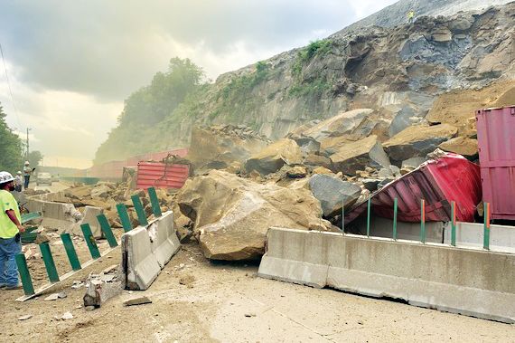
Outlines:
<svg viewBox="0 0 515 343"><path fill-rule="evenodd" d="M452 100L440 96L473 93L502 81L508 87L497 98L479 102L513 98L515 3L479 12L484 2L476 0L410 0L392 6L374 14L385 27L364 27L372 15L325 40L220 75L158 125L157 137L165 139L149 137L152 148L189 146L192 128L201 125L246 125L276 140L314 119L355 109L374 110L367 120L381 142L410 126L439 122L451 123L461 135L473 112L442 118L433 110L435 101L442 109ZM417 20L402 24L412 6ZM476 10L420 15L468 8Z"/></svg>

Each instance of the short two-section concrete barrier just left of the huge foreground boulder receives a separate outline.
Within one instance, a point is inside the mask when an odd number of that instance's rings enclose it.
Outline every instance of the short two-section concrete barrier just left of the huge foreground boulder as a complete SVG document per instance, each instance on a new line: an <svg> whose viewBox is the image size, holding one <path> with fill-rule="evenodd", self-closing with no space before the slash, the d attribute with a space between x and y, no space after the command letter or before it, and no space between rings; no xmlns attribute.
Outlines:
<svg viewBox="0 0 515 343"><path fill-rule="evenodd" d="M122 235L122 286L127 290L146 290L167 262L179 251L173 227L173 212L168 211L147 226Z"/></svg>

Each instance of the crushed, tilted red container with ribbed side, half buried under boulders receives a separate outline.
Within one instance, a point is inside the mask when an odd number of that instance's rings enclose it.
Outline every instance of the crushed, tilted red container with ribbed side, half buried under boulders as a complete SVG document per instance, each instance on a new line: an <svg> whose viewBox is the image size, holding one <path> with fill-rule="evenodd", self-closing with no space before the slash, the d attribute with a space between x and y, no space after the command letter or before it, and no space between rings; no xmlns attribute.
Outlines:
<svg viewBox="0 0 515 343"><path fill-rule="evenodd" d="M476 205L481 202L479 166L452 153L429 160L374 193L371 198L373 214L393 218L395 198L398 198L400 222L420 222L420 199L426 200L427 222L449 222L452 201L456 203L456 220L473 222ZM365 200L345 215L345 224L366 210Z"/></svg>

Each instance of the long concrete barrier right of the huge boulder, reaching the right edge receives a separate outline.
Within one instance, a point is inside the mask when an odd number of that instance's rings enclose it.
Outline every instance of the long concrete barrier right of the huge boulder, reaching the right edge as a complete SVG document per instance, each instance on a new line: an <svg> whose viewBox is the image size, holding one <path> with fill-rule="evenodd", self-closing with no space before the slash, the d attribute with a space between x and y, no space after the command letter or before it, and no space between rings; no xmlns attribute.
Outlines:
<svg viewBox="0 0 515 343"><path fill-rule="evenodd" d="M270 228L260 277L515 322L515 254Z"/></svg>

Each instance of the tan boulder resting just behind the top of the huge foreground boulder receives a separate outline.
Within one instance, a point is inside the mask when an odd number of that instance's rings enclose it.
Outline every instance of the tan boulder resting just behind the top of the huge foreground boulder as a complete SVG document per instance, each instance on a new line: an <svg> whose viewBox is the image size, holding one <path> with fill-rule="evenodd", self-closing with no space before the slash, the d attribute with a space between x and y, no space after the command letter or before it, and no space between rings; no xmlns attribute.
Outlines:
<svg viewBox="0 0 515 343"><path fill-rule="evenodd" d="M302 152L295 140L283 138L252 155L245 163L245 169L248 173L256 170L261 175L268 175L285 165L291 166L301 162Z"/></svg>

